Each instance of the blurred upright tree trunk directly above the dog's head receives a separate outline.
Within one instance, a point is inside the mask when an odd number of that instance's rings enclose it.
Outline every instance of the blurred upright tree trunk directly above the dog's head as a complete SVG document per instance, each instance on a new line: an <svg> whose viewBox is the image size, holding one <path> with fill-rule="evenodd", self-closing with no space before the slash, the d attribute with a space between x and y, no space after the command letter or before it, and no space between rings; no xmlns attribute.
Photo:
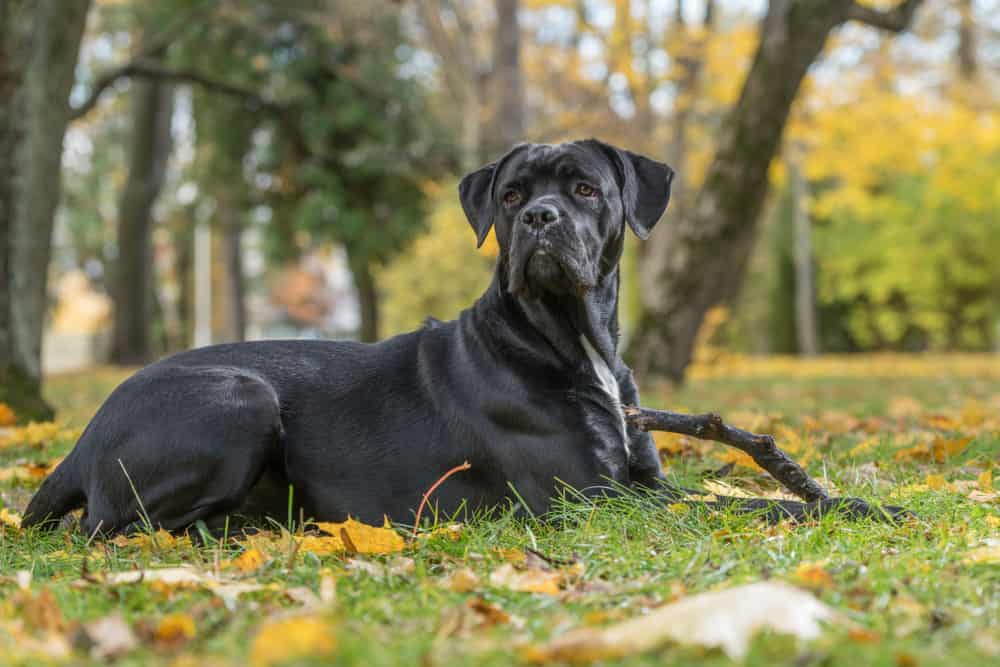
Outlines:
<svg viewBox="0 0 1000 667"><path fill-rule="evenodd" d="M521 78L519 0L496 0L497 25L494 69L500 109L493 155L524 141L524 85Z"/></svg>

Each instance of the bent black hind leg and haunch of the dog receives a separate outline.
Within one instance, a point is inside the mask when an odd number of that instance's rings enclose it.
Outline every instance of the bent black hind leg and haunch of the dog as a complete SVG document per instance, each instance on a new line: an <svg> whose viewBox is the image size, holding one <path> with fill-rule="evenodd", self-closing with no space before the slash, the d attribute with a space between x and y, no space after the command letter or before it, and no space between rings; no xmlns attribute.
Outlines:
<svg viewBox="0 0 1000 667"><path fill-rule="evenodd" d="M277 394L241 369L156 369L116 390L94 422L77 445L87 532L221 523L281 465Z"/></svg>

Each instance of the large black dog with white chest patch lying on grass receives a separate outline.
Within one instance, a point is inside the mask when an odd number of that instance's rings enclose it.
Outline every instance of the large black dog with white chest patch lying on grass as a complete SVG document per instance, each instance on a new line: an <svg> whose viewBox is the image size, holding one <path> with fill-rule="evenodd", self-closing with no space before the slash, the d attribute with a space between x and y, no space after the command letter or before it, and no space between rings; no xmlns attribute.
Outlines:
<svg viewBox="0 0 1000 667"><path fill-rule="evenodd" d="M422 494L445 515L515 498L544 514L585 495L665 485L618 354L626 223L645 239L673 172L595 140L521 145L466 176L462 207L500 246L493 282L456 321L374 345L217 345L152 364L119 386L45 481L24 524L84 507L82 528L179 530L230 515L406 523ZM447 277L442 277L447 279ZM773 516L831 505L741 503ZM851 511L867 506L852 501ZM860 510L858 508L861 508Z"/></svg>

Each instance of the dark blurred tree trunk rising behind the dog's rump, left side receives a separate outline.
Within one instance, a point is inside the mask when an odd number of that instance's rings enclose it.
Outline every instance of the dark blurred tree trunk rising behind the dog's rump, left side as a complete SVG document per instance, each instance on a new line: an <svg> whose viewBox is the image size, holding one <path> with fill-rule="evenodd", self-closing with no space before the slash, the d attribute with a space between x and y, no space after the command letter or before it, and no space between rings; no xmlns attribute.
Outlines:
<svg viewBox="0 0 1000 667"><path fill-rule="evenodd" d="M161 54L162 55L162 54ZM111 361L148 362L153 304L153 205L170 157L173 90L157 79L132 81L129 171L118 212L118 261L114 272Z"/></svg>

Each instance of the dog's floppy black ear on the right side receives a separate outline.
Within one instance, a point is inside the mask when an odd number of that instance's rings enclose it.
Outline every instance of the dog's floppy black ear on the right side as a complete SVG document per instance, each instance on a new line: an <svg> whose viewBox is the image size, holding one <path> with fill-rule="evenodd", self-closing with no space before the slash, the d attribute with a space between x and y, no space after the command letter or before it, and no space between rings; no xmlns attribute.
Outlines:
<svg viewBox="0 0 1000 667"><path fill-rule="evenodd" d="M618 170L625 221L645 241L667 210L674 170L656 160L591 139Z"/></svg>

